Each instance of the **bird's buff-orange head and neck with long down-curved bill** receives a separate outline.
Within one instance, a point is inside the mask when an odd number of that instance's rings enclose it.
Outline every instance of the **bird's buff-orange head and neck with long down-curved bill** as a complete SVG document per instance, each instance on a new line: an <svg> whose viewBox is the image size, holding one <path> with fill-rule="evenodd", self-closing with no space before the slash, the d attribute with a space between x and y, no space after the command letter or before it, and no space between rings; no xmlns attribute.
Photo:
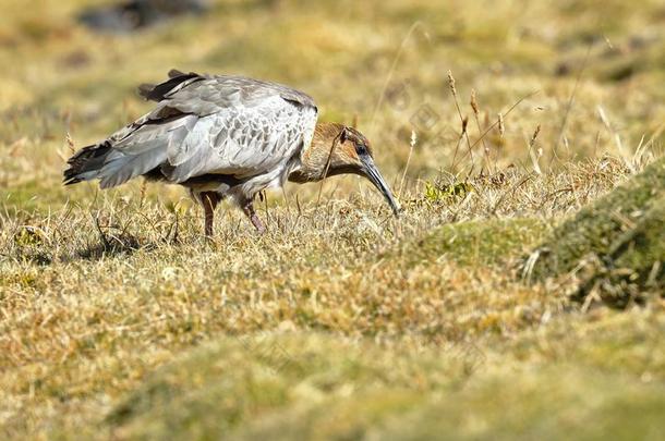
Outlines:
<svg viewBox="0 0 665 441"><path fill-rule="evenodd" d="M319 181L337 174L358 174L374 184L398 216L399 205L374 163L370 140L355 128L337 123L317 124L312 146L302 160L302 170L289 175L291 181Z"/></svg>

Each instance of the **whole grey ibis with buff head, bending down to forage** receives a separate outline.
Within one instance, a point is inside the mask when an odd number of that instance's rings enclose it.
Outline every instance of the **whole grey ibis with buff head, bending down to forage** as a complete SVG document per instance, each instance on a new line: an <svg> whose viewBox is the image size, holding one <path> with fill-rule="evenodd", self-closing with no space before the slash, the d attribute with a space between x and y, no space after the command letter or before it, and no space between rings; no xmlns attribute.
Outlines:
<svg viewBox="0 0 665 441"><path fill-rule="evenodd" d="M157 102L155 108L76 151L64 185L98 180L104 189L141 175L182 185L203 206L208 237L223 199L264 233L253 206L259 192L339 174L366 177L399 216L370 140L354 127L319 122L314 99L300 90L240 75L171 70L168 79L141 85L138 94Z"/></svg>

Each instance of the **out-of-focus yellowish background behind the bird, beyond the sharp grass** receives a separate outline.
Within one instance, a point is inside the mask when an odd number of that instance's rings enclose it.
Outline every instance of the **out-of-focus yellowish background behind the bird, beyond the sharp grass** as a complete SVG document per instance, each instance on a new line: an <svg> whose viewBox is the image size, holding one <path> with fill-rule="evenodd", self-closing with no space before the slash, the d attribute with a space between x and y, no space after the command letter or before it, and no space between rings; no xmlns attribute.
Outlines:
<svg viewBox="0 0 665 441"><path fill-rule="evenodd" d="M0 7L7 152L0 192L13 188L16 204L21 192L38 194L40 186L51 193L41 198L64 198L55 184L71 150L146 112L150 105L136 86L164 79L171 68L304 90L323 120L358 122L391 179L413 145L411 183L442 170L546 170L663 142L662 1L1 0Z"/></svg>

